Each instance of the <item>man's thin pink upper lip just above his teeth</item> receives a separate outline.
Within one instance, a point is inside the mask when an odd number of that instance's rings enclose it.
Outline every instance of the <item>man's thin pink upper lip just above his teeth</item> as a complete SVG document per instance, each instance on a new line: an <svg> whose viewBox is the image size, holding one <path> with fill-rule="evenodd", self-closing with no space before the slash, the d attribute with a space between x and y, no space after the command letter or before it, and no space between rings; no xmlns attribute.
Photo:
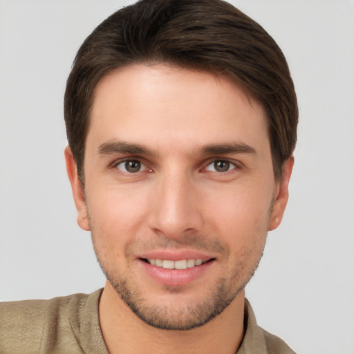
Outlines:
<svg viewBox="0 0 354 354"><path fill-rule="evenodd" d="M196 250L153 250L139 254L138 258L169 259L171 261L180 261L181 259L201 259L202 261L207 261L215 257Z"/></svg>

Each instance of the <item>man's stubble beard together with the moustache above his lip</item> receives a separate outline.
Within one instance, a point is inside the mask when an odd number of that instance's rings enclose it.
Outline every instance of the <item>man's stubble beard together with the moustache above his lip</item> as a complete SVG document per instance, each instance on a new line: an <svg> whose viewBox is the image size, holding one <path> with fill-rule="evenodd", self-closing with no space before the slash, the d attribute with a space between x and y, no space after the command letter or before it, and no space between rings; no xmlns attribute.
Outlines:
<svg viewBox="0 0 354 354"><path fill-rule="evenodd" d="M265 223L263 227L259 227L257 236L255 236L257 240L256 244L259 248L255 247L243 250L241 259L239 259L239 263L234 265L231 276L219 278L214 288L209 291L209 294L204 297L203 301L194 306L184 304L183 308L176 308L171 303L171 306L161 305L158 303L158 299L155 304L149 304L138 289L134 279L124 277L117 268L109 267L105 261L108 258L105 254L101 254L100 249L102 250L102 248L97 247L96 240L100 242L100 236L95 237L93 220L89 215L87 217L90 221L91 239L100 268L104 272L106 279L115 289L117 295L127 304L131 311L145 324L155 328L164 330L190 330L203 326L214 319L214 317L220 315L232 303L239 292L245 288L250 279L252 279L263 257L265 241L268 235L268 227L265 227L265 225L269 225L273 205L274 198L270 203ZM165 247L174 245L174 243L179 246L196 246L196 248L204 246L206 250L218 250L220 254L228 253L230 255L227 245L222 245L219 241L214 241L214 243L210 244L208 241L201 240L205 240L205 237L189 236L184 241L165 239L163 242L165 243ZM200 241L201 244L198 244ZM247 262L249 257L252 257L252 263ZM248 267L245 266L246 264ZM178 294L180 289L173 286L165 286L165 292Z"/></svg>

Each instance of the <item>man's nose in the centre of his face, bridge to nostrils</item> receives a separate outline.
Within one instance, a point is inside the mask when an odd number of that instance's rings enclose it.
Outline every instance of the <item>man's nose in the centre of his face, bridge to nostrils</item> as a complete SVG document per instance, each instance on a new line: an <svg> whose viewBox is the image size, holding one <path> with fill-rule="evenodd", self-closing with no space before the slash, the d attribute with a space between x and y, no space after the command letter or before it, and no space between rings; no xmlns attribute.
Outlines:
<svg viewBox="0 0 354 354"><path fill-rule="evenodd" d="M171 172L160 176L153 190L149 227L169 239L201 231L200 192L196 181L187 173Z"/></svg>

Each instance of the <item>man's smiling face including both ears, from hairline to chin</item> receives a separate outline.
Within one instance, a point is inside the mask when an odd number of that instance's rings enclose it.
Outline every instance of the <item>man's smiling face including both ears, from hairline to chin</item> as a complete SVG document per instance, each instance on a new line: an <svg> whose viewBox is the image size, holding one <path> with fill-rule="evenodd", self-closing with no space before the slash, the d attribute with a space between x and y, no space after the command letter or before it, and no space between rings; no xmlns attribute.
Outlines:
<svg viewBox="0 0 354 354"><path fill-rule="evenodd" d="M225 77L133 65L97 85L78 222L111 286L147 324L201 326L257 268L288 196L263 107Z"/></svg>

